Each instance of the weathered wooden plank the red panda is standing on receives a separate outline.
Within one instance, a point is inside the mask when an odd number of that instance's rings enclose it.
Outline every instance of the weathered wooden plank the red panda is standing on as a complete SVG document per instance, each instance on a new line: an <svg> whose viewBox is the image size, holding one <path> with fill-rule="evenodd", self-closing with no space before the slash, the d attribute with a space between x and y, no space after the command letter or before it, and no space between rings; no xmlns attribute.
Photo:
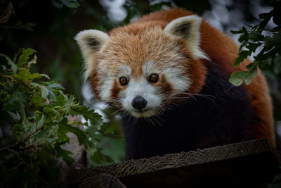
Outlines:
<svg viewBox="0 0 281 188"><path fill-rule="evenodd" d="M69 187L261 187L280 156L267 139L70 170Z"/></svg>

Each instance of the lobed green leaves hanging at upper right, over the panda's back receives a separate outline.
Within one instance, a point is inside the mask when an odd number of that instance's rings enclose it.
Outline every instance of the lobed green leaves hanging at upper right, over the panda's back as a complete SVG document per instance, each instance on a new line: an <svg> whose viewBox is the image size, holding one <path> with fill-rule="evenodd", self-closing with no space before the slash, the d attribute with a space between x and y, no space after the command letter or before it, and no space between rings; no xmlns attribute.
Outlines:
<svg viewBox="0 0 281 188"><path fill-rule="evenodd" d="M242 61L260 48L259 54L254 56L254 62L246 66L247 70L238 71L230 76L230 82L235 86L250 84L253 77L256 77L258 68L270 67L273 74L281 75L281 1L275 1L273 10L269 13L261 13L261 22L250 26L250 30L242 27L241 30L231 31L233 34L240 34L238 41L241 43L238 57L233 66L240 65ZM267 28L268 22L273 18L277 25L274 28ZM269 36L263 35L270 32Z"/></svg>

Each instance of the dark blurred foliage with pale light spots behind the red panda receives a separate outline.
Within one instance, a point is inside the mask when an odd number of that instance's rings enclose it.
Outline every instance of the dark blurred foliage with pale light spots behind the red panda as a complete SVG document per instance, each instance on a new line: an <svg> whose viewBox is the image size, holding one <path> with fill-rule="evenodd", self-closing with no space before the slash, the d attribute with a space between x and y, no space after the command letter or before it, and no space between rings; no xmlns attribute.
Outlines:
<svg viewBox="0 0 281 188"><path fill-rule="evenodd" d="M271 3L272 1L267 0L1 0L1 16L9 4L12 7L10 6L11 17L0 25L0 51L13 56L22 47L36 49L38 63L33 71L46 73L51 80L62 83L68 94L74 94L85 104L91 104L89 86L83 83L81 77L81 53L74 42L74 36L79 31L97 29L106 32L119 25L126 25L146 13L179 6L203 15L211 25L237 39L239 36L231 35L230 30L240 30L243 26L259 23L259 13L269 12L272 9ZM25 27L25 30L17 29L17 25ZM281 75L267 71L266 77L273 96L276 132L280 136ZM104 132L113 133L111 138L100 137L100 151L111 156L115 162L122 161L124 139L118 115L100 106L92 107L103 111L106 122ZM280 140L277 141L279 143ZM92 165L107 163L98 152L96 158L100 158L100 163Z"/></svg>

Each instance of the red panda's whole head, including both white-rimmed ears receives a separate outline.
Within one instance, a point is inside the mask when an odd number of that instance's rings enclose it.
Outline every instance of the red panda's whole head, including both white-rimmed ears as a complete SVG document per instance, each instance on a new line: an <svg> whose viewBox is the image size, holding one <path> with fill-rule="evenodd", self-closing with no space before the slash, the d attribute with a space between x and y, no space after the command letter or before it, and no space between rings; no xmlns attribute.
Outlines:
<svg viewBox="0 0 281 188"><path fill-rule="evenodd" d="M202 18L189 15L166 26L134 23L110 35L84 30L75 37L85 79L101 101L136 118L157 115L177 96L197 93L206 70L200 49Z"/></svg>

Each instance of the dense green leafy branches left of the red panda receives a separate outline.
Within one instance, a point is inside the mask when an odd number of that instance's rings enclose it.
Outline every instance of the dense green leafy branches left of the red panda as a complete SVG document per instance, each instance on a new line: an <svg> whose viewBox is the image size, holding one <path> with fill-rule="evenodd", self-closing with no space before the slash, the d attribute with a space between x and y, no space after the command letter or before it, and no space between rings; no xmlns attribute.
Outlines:
<svg viewBox="0 0 281 188"><path fill-rule="evenodd" d="M31 73L37 63L35 52L21 49L13 59L0 54L1 187L58 184L58 158L67 165L74 162L72 153L61 148L70 141L68 132L84 144L90 158L98 154L112 161L96 149L96 135L103 134L101 116L64 94L48 75ZM83 115L86 122L70 122L70 115ZM77 124L86 130L73 126Z"/></svg>

